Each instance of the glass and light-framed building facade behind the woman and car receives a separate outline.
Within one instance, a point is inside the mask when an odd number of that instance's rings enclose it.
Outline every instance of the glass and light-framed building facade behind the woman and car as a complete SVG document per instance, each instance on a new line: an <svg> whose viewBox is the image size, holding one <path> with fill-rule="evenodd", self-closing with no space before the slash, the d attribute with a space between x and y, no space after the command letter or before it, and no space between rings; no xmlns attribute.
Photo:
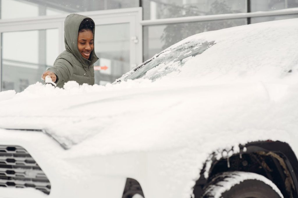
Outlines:
<svg viewBox="0 0 298 198"><path fill-rule="evenodd" d="M95 24L95 83L205 31L298 17L298 0L0 0L1 91L23 91L64 50L69 13Z"/></svg>

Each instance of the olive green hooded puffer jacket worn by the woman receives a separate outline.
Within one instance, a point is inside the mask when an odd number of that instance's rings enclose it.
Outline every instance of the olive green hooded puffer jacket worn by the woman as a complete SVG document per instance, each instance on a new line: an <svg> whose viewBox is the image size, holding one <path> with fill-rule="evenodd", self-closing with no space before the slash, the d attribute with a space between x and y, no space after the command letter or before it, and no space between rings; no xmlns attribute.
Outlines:
<svg viewBox="0 0 298 198"><path fill-rule="evenodd" d="M47 69L47 71L54 72L57 76L57 87L62 88L64 83L74 80L80 85L88 83L94 85L94 66L93 64L98 60L94 49L90 54L90 61L84 58L77 47L77 37L79 27L85 18L83 15L70 14L64 21L64 43L65 49L55 60L54 66ZM94 38L93 28L93 38Z"/></svg>

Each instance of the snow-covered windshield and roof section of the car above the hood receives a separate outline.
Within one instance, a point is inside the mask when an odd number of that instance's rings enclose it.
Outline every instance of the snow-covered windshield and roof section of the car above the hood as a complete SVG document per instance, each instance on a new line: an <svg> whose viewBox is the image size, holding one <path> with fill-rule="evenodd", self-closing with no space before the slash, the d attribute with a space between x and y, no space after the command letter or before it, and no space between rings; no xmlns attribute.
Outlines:
<svg viewBox="0 0 298 198"><path fill-rule="evenodd" d="M150 79L153 72L162 73L163 70L172 69L173 74L165 78L181 82L188 80L188 82L210 84L276 81L288 75L288 72L297 71L298 35L295 34L298 30L297 21L297 19L271 21L193 35L145 61L144 66L154 61L157 64L142 78ZM175 61L177 49L187 49L188 46L195 49L206 43L212 46L197 56L186 58L182 61L182 66L177 63L179 61ZM191 50L186 52L192 53ZM173 69L175 64L176 70ZM130 76L136 73L134 70L117 81L130 79Z"/></svg>

